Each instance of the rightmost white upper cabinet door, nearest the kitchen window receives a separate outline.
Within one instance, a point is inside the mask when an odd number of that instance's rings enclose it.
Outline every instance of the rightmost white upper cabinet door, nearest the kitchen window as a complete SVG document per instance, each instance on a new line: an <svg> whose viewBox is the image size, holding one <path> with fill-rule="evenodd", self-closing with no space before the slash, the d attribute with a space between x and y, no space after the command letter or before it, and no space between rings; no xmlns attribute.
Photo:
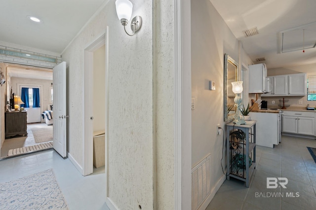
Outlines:
<svg viewBox="0 0 316 210"><path fill-rule="evenodd" d="M306 73L288 75L288 95L306 95Z"/></svg>

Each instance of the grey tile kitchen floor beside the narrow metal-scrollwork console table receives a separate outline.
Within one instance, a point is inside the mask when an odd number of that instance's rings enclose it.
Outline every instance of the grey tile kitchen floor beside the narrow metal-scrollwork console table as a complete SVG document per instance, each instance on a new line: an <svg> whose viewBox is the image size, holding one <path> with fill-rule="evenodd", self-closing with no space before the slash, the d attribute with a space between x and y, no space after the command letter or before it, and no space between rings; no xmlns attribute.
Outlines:
<svg viewBox="0 0 316 210"><path fill-rule="evenodd" d="M316 140L282 136L275 148L257 146L249 188L240 180L225 180L206 210L316 210L316 163L307 146L316 148ZM267 177L286 177L287 188L267 189Z"/></svg>

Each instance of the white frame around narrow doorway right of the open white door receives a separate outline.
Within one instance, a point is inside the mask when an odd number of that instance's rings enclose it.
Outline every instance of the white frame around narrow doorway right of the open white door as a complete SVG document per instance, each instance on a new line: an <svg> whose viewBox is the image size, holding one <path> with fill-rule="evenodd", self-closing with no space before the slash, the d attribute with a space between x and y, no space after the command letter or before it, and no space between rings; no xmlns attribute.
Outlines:
<svg viewBox="0 0 316 210"><path fill-rule="evenodd" d="M89 175L93 173L93 123L91 123L91 117L93 117L93 52L105 45L106 56L105 56L105 66L108 70L108 37L107 32L104 32L102 35L98 36L92 43L90 43L84 49L84 80L83 80L83 165L82 165L82 175ZM106 74L107 78L107 74ZM105 78L105 79L106 79ZM106 82L107 85L107 82ZM108 110L107 105L107 92L106 94L106 115ZM105 116L106 117L106 116ZM106 118L107 120L107 118ZM106 121L107 125L107 121ZM107 128L107 126L106 126ZM105 130L106 130L105 128ZM106 130L106 137L107 137ZM106 138L107 140L107 138ZM107 144L107 143L106 143ZM106 147L107 148L107 147ZM107 153L107 152L106 152ZM107 159L106 159L107 160Z"/></svg>

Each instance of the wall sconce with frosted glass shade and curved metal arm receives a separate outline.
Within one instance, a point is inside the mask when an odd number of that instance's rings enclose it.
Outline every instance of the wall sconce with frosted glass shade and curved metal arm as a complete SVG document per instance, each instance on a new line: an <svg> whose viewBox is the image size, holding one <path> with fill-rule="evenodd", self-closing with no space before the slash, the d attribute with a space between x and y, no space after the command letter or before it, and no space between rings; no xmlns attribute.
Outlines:
<svg viewBox="0 0 316 210"><path fill-rule="evenodd" d="M121 24L124 26L125 33L127 35L130 35L126 32L125 26L127 26L127 23L132 16L132 11L133 11L132 2L130 2L129 0L116 0L115 6L117 8L118 19L120 20ZM135 16L132 19L132 22L130 24L130 28L133 31L133 34L131 34L130 36L134 35L135 32L140 30L141 27L142 27L142 17Z"/></svg>

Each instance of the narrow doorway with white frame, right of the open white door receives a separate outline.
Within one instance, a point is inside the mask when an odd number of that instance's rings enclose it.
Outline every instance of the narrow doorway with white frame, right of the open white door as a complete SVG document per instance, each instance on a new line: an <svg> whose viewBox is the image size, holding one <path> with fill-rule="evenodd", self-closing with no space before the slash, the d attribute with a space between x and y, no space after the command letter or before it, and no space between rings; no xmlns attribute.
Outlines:
<svg viewBox="0 0 316 210"><path fill-rule="evenodd" d="M83 175L106 165L106 35L84 50Z"/></svg>

